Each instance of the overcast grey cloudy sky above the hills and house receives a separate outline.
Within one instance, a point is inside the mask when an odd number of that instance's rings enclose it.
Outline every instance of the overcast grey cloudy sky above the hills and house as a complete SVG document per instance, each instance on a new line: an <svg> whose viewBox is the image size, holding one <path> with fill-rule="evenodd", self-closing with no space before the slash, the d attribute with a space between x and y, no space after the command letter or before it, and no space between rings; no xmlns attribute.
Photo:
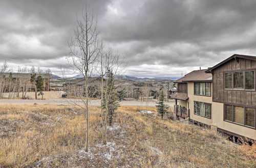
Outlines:
<svg viewBox="0 0 256 168"><path fill-rule="evenodd" d="M68 40L86 4L105 45L126 55L123 73L179 77L234 53L256 55L255 0L0 0L0 61L69 68ZM68 70L67 70L68 71Z"/></svg>

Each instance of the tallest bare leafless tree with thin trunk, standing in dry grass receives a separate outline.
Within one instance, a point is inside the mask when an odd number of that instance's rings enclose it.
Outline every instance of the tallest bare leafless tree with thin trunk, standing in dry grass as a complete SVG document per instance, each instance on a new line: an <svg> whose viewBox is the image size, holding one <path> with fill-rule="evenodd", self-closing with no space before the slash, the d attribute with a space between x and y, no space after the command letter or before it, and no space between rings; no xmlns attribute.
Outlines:
<svg viewBox="0 0 256 168"><path fill-rule="evenodd" d="M69 41L70 59L68 63L76 69L84 78L84 97L81 97L86 118L86 151L89 148L89 77L96 69L96 61L100 53L99 32L97 18L90 7L82 11L82 18L77 17L77 26L74 29L74 37Z"/></svg>

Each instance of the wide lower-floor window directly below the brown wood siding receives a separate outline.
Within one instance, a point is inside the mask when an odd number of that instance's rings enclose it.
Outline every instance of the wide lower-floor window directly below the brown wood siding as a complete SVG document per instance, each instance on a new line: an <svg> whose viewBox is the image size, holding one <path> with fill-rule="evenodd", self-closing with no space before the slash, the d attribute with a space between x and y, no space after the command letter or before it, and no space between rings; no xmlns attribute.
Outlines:
<svg viewBox="0 0 256 168"><path fill-rule="evenodd" d="M255 108L225 104L225 121L255 128Z"/></svg>

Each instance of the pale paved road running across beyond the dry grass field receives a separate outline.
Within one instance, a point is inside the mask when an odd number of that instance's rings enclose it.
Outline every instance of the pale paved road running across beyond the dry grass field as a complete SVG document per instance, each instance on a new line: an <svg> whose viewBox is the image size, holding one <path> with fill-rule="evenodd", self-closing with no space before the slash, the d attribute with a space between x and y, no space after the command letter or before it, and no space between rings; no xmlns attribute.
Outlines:
<svg viewBox="0 0 256 168"><path fill-rule="evenodd" d="M19 99L0 99L0 104L82 104L80 100L75 99L62 99L62 100L19 100ZM100 100L90 100L90 105L100 105ZM122 101L120 102L121 105L132 105L132 106L145 106L146 102L141 101ZM168 102L166 103L169 106L173 106L174 102ZM148 106L155 106L156 102L148 102Z"/></svg>

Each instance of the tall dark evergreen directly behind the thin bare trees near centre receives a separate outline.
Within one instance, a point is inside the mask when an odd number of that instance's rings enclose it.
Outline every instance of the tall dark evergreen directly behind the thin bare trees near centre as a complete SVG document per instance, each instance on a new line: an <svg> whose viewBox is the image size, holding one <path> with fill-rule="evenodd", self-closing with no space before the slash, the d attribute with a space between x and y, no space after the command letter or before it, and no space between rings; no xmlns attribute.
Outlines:
<svg viewBox="0 0 256 168"><path fill-rule="evenodd" d="M113 120L115 118L115 110L118 108L118 97L116 87L114 86L114 74L111 70L108 70L107 81L104 88L103 93L103 109L106 109L106 105L108 107L108 123L112 125Z"/></svg>

